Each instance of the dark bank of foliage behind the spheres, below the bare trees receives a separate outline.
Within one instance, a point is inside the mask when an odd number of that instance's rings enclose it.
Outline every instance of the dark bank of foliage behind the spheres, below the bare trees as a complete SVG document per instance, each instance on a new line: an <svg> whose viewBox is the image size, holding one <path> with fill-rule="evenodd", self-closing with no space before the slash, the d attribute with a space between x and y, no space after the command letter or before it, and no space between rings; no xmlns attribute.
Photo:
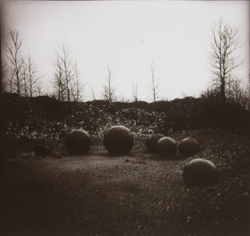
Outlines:
<svg viewBox="0 0 250 236"><path fill-rule="evenodd" d="M135 137L147 137L148 130L168 135L171 131L203 128L237 130L249 134L250 113L240 107L192 97L170 102L59 102L50 97L24 98L4 94L3 137L58 140L72 129L84 129L103 137L113 125L128 127Z"/></svg>

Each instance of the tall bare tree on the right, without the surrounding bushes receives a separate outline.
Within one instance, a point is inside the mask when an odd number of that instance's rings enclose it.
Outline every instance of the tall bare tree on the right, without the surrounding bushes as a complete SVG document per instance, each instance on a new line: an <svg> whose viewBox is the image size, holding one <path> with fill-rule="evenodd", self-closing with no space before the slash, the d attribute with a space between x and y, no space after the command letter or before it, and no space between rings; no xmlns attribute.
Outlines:
<svg viewBox="0 0 250 236"><path fill-rule="evenodd" d="M243 61L239 61L235 55L239 48L239 29L225 24L222 19L213 26L212 50L209 61L214 74L214 86L220 93L222 102L227 101L227 92L230 86L230 75L240 67Z"/></svg>

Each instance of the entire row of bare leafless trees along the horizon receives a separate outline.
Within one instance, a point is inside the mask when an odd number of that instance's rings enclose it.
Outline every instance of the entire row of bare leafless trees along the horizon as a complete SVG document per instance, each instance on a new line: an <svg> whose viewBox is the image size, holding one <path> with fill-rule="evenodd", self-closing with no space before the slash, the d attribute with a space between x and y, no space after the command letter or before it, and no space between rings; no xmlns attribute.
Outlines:
<svg viewBox="0 0 250 236"><path fill-rule="evenodd" d="M237 57L239 45L239 28L234 28L223 22L222 19L211 28L211 51L208 61L213 77L207 90L201 92L201 97L216 99L220 102L236 103L244 108L249 106L249 88L246 88L235 74L243 61ZM44 77L38 72L30 55L22 55L22 40L17 30L10 31L11 42L5 43L6 60L1 60L2 92L17 93L25 97L41 96L41 79ZM59 101L83 101L85 84L80 78L77 62L70 56L66 43L57 44L54 48L54 74L50 81L53 91L50 96ZM153 62L150 64L151 97L158 100L159 84L155 76ZM107 65L107 76L103 85L102 97L104 100L116 101L115 87L113 86L112 70ZM249 74L250 83L250 74ZM95 94L91 87L93 100ZM47 94L48 95L48 94ZM137 84L132 85L132 96L138 101ZM125 99L122 99L125 100Z"/></svg>

